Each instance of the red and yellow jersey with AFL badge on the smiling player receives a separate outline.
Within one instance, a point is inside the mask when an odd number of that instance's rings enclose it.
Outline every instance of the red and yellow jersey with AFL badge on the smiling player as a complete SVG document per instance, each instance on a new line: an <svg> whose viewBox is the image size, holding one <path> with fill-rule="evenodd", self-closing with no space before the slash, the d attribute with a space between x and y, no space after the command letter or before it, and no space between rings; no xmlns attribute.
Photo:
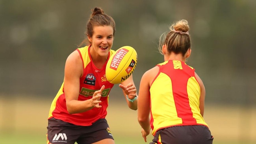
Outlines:
<svg viewBox="0 0 256 144"><path fill-rule="evenodd" d="M56 97L54 98L52 105L50 107L50 112L48 119L54 117L64 122L69 122L79 126L91 126L93 122L100 118L105 118L107 115L108 107L108 94L113 87L113 84L109 83L106 79L106 65L102 69L96 68L91 60L91 55L89 53L89 46L83 48L78 48L77 51L83 62L83 76L80 78L80 94L78 100L84 101L91 99L93 93L96 90L100 90L102 85L105 85L105 89L102 92L102 97L100 100L102 103L101 108L93 108L89 111L77 114L69 114L66 106L64 82L61 85ZM108 59L115 51L110 50Z"/></svg>

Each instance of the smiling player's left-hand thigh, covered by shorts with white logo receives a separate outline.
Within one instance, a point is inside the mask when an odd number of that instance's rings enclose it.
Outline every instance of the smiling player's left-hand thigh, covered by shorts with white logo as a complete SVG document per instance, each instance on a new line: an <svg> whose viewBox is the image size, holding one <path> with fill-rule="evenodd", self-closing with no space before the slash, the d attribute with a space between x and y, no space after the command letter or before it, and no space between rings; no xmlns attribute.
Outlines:
<svg viewBox="0 0 256 144"><path fill-rule="evenodd" d="M79 129L81 126L51 118L48 120L47 129L47 143L74 144L80 136Z"/></svg>

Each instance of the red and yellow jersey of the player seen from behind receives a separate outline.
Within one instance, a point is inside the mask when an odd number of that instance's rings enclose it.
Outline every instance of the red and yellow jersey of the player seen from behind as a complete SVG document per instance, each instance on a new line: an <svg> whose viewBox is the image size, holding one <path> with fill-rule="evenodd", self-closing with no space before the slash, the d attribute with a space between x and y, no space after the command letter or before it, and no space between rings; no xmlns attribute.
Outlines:
<svg viewBox="0 0 256 144"><path fill-rule="evenodd" d="M150 86L152 134L171 126L207 126L200 114L200 86L195 69L176 60L157 66L160 70Z"/></svg>

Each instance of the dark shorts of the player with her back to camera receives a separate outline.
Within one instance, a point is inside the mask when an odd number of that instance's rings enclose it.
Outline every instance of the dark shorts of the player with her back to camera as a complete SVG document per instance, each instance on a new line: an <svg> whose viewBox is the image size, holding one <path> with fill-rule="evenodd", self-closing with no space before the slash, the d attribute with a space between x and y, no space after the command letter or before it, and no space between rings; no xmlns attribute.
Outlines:
<svg viewBox="0 0 256 144"><path fill-rule="evenodd" d="M206 126L173 126L159 129L150 144L212 144L213 136Z"/></svg>

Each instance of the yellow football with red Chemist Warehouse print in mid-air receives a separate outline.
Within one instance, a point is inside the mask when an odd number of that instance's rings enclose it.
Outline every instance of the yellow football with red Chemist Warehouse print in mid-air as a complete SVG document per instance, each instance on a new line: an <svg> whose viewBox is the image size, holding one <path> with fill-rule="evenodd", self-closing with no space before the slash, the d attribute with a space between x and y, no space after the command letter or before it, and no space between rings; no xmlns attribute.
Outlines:
<svg viewBox="0 0 256 144"><path fill-rule="evenodd" d="M106 66L106 78L110 83L125 81L134 72L137 65L137 52L131 46L123 46L109 57Z"/></svg>

